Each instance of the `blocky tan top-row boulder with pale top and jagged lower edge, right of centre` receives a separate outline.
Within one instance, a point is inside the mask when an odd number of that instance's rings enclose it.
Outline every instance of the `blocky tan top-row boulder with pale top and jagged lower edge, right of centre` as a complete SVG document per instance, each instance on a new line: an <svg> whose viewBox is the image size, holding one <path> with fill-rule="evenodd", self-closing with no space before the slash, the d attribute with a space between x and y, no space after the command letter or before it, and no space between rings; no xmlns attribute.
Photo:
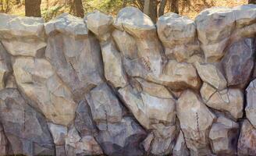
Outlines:
<svg viewBox="0 0 256 156"><path fill-rule="evenodd" d="M194 52L200 51L197 30L193 20L176 13L166 13L158 18L158 37L165 47L168 58L186 61Z"/></svg>

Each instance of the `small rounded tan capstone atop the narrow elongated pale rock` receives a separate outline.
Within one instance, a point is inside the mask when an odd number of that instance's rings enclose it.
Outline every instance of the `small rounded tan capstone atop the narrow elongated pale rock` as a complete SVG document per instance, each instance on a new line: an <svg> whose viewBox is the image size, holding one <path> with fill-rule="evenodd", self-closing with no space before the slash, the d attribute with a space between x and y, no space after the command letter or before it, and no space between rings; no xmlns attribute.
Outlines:
<svg viewBox="0 0 256 156"><path fill-rule="evenodd" d="M112 30L113 18L99 11L91 12L86 16L86 23L100 41L106 41L110 37Z"/></svg>

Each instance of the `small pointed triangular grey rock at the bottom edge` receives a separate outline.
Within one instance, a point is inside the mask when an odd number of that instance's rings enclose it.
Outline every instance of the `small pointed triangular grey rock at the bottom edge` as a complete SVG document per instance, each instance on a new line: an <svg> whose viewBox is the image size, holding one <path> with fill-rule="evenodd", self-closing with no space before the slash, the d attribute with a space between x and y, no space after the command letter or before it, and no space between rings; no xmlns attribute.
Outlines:
<svg viewBox="0 0 256 156"><path fill-rule="evenodd" d="M190 152L187 149L187 145L184 139L183 132L180 130L179 136L177 137L175 147L172 150L173 156L189 156Z"/></svg>

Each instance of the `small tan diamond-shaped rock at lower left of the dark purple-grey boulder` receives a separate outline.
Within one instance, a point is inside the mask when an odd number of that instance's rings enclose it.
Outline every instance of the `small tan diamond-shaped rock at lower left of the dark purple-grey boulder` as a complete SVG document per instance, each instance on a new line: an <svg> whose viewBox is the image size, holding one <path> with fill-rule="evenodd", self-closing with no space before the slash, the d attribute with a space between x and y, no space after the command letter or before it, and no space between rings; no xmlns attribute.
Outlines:
<svg viewBox="0 0 256 156"><path fill-rule="evenodd" d="M211 84L218 90L223 90L226 88L226 79L215 65L200 64L196 62L195 66L197 68L197 73L201 77L201 80Z"/></svg>

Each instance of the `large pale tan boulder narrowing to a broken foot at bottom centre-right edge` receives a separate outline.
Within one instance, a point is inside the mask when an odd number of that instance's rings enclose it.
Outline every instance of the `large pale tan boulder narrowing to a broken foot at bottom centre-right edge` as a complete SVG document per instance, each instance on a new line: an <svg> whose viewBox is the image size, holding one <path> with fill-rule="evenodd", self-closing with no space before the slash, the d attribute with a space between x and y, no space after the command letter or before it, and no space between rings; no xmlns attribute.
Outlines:
<svg viewBox="0 0 256 156"><path fill-rule="evenodd" d="M145 150L154 155L170 154L179 132L172 94L165 87L142 79L132 83L133 86L119 89L119 94L137 121L151 130L144 140Z"/></svg>

